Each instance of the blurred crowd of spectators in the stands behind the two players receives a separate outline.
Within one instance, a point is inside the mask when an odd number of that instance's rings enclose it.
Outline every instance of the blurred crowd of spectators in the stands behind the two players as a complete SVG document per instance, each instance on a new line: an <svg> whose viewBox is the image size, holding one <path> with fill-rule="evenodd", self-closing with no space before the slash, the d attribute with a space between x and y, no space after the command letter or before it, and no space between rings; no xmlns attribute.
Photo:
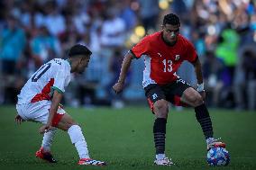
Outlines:
<svg viewBox="0 0 256 170"><path fill-rule="evenodd" d="M207 104L256 110L256 1L253 0L2 0L0 1L0 104L15 103L25 81L51 58L67 58L76 44L93 55L74 75L64 103L123 107L144 100L143 59L133 62L126 89L114 95L123 55L143 36L160 31L163 16L177 13L180 33L201 59ZM193 67L178 75L193 86Z"/></svg>

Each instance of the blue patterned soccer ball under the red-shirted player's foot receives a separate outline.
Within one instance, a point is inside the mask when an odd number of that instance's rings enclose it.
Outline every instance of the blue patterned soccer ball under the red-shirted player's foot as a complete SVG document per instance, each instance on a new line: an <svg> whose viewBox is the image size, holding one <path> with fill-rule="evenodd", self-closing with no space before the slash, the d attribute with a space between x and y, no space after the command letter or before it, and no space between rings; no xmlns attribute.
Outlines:
<svg viewBox="0 0 256 170"><path fill-rule="evenodd" d="M227 166L230 156L225 148L211 148L207 152L207 163L209 166Z"/></svg>

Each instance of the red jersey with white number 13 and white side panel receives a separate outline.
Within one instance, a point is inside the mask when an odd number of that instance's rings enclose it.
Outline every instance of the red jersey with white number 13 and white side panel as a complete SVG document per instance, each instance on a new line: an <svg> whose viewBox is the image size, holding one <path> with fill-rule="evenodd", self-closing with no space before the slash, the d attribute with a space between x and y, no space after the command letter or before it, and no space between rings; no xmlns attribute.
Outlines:
<svg viewBox="0 0 256 170"><path fill-rule="evenodd" d="M184 60L191 63L197 60L197 51L191 42L179 34L176 44L169 46L162 40L161 31L144 37L131 52L135 58L145 57L143 87L169 84L178 78L176 71Z"/></svg>

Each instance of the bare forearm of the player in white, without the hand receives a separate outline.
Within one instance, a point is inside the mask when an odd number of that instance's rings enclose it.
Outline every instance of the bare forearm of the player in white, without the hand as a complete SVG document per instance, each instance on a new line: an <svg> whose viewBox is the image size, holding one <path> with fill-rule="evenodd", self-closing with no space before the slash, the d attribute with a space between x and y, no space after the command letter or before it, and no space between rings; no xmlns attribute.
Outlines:
<svg viewBox="0 0 256 170"><path fill-rule="evenodd" d="M51 104L50 104L50 111L49 111L49 118L48 118L49 125L51 125L54 114L58 110L61 98L62 98L62 94L60 94L58 91L54 91L53 97L51 99Z"/></svg>

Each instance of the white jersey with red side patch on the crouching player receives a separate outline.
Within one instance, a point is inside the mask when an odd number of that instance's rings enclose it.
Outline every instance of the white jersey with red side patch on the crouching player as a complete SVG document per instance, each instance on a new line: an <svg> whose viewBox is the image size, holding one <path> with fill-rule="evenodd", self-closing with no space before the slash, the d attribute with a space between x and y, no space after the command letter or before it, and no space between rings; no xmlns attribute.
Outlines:
<svg viewBox="0 0 256 170"><path fill-rule="evenodd" d="M53 89L65 92L70 82L70 64L67 60L54 58L42 65L23 86L18 104L50 101Z"/></svg>

